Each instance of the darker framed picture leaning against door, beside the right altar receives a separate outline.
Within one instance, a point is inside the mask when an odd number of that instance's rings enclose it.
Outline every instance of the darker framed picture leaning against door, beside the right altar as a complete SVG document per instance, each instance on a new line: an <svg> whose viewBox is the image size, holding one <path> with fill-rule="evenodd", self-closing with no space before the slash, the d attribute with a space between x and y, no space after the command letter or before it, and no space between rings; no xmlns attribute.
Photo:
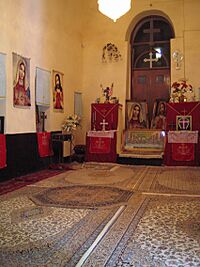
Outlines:
<svg viewBox="0 0 200 267"><path fill-rule="evenodd" d="M166 129L166 102L157 100L154 102L153 116L151 120L152 129Z"/></svg>

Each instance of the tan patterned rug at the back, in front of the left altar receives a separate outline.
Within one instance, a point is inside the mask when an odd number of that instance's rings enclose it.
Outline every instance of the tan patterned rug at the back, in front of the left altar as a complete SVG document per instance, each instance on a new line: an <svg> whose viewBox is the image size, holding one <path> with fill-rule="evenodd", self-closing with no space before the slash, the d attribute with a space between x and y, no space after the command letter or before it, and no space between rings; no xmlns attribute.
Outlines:
<svg viewBox="0 0 200 267"><path fill-rule="evenodd" d="M69 185L106 185L132 191L146 174L145 166L114 165L112 169L87 168L84 165L76 171L69 171L36 184L38 187L65 187Z"/></svg>

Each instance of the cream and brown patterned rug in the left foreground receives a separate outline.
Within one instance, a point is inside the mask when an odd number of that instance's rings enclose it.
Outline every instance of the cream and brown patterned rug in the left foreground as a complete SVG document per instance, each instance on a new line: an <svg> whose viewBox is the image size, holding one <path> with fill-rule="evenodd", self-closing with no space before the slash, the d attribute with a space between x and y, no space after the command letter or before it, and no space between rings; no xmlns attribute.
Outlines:
<svg viewBox="0 0 200 267"><path fill-rule="evenodd" d="M0 203L0 266L71 266L117 208L100 210L36 206L27 196ZM72 265L73 266L73 265Z"/></svg>

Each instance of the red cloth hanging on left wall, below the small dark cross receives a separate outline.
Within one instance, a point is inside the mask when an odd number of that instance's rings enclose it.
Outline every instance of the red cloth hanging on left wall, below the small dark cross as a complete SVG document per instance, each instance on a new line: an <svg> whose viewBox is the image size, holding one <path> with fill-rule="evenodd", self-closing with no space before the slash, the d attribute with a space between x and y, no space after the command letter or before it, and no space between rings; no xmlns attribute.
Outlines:
<svg viewBox="0 0 200 267"><path fill-rule="evenodd" d="M37 133L38 151L41 158L53 155L51 133Z"/></svg>

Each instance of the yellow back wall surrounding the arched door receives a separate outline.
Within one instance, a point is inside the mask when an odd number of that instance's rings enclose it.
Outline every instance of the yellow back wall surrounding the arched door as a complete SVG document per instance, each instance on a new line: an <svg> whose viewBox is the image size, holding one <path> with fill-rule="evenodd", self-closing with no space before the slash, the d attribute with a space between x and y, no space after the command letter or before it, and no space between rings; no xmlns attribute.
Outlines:
<svg viewBox="0 0 200 267"><path fill-rule="evenodd" d="M96 0L84 3L84 132L90 129L90 105L101 95L100 84L110 86L114 83L113 95L123 105L125 119L125 100L130 95L130 34L137 22L145 16L161 15L167 18L175 32L175 38L171 41L171 53L174 49L179 49L184 54L180 71L176 70L174 62L171 63L171 82L185 77L195 88L200 86L198 68L193 72L200 60L199 11L199 0L136 0L132 1L131 10L114 23L98 12ZM102 63L103 47L107 43L118 47L122 61Z"/></svg>

